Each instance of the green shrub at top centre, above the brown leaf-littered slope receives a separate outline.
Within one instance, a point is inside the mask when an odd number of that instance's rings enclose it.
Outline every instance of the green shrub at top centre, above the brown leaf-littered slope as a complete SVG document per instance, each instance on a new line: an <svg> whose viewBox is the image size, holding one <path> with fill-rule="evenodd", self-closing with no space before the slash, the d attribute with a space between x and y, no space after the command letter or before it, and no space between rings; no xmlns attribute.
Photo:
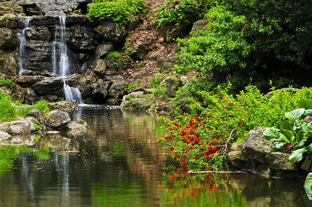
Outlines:
<svg viewBox="0 0 312 207"><path fill-rule="evenodd" d="M210 8L215 1L200 0L168 0L165 5L156 10L158 26L166 26L168 23L179 23L180 21L195 21L202 18L204 12Z"/></svg>

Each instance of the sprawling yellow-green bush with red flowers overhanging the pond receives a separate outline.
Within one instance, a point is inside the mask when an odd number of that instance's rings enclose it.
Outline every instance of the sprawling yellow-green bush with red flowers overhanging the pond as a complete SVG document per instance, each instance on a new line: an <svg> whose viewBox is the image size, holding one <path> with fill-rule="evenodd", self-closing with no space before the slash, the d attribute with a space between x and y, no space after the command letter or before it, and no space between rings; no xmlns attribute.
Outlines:
<svg viewBox="0 0 312 207"><path fill-rule="evenodd" d="M175 121L165 119L166 135L159 142L170 148L168 155L181 161L182 168L220 169L229 143L243 141L257 126L279 126L285 112L298 108L300 100L312 98L311 88L275 90L267 96L248 86L235 97L230 90L231 84L212 92L198 91L201 102L193 96L188 113L175 108Z"/></svg>

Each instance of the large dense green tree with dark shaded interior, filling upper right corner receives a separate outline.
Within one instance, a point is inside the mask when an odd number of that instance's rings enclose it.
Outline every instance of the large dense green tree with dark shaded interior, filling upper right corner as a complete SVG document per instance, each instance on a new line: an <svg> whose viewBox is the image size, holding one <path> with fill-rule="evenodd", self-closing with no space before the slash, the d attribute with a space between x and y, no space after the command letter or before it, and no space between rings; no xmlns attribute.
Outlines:
<svg viewBox="0 0 312 207"><path fill-rule="evenodd" d="M226 79L233 83L233 92L248 84L267 91L267 79L278 88L304 86L309 79L302 73L309 77L312 59L311 4L308 0L222 1L206 14L210 20L206 30L178 40L180 64L175 70L196 70L197 83L205 90L212 89L206 83Z"/></svg>

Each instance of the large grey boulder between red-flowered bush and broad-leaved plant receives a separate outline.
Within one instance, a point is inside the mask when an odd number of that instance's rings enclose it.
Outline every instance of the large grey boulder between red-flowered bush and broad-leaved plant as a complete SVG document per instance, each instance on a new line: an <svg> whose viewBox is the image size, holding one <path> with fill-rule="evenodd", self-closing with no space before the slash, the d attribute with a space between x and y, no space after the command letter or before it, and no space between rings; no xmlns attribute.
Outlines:
<svg viewBox="0 0 312 207"><path fill-rule="evenodd" d="M272 141L264 139L266 128L257 127L251 130L242 142L242 153L248 160L256 160L261 164L269 164L266 155L272 150Z"/></svg>

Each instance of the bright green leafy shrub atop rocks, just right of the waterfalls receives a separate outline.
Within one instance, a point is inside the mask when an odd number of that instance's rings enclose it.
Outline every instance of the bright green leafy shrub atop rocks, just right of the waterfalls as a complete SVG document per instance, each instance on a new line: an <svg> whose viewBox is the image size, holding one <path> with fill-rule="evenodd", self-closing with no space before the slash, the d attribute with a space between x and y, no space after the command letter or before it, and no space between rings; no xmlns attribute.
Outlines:
<svg viewBox="0 0 312 207"><path fill-rule="evenodd" d="M142 12L145 5L144 0L97 0L90 4L86 17L90 21L112 19L115 23L126 24L129 14Z"/></svg>

